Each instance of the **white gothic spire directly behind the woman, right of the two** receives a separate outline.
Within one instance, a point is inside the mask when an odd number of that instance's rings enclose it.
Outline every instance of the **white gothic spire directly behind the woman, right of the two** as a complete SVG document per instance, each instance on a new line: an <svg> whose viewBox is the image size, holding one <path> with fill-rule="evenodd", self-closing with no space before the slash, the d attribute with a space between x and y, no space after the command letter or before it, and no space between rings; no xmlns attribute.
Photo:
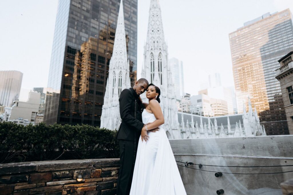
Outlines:
<svg viewBox="0 0 293 195"><path fill-rule="evenodd" d="M164 129L170 139L180 138L178 110L171 71L168 65L168 46L165 42L159 0L151 0L147 41L144 45L142 78L161 89L161 108L165 118ZM146 97L142 97L147 101Z"/></svg>

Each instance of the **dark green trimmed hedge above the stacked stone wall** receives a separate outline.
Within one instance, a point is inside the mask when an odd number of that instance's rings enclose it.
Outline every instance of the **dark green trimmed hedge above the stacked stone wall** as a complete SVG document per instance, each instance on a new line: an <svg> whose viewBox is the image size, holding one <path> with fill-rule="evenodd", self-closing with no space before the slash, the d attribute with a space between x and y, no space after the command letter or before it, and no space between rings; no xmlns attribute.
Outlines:
<svg viewBox="0 0 293 195"><path fill-rule="evenodd" d="M117 131L90 125L0 123L0 163L118 158Z"/></svg>

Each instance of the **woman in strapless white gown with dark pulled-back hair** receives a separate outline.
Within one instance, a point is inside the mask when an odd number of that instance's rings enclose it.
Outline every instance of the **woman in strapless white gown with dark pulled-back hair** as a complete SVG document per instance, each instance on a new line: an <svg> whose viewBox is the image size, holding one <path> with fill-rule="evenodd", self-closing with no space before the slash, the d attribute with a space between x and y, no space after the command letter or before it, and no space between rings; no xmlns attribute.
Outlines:
<svg viewBox="0 0 293 195"><path fill-rule="evenodd" d="M142 122L147 125L137 148L131 195L186 194L165 130L160 127L157 132L147 132L164 124L160 93L154 84L147 87L149 104L144 103L142 112Z"/></svg>

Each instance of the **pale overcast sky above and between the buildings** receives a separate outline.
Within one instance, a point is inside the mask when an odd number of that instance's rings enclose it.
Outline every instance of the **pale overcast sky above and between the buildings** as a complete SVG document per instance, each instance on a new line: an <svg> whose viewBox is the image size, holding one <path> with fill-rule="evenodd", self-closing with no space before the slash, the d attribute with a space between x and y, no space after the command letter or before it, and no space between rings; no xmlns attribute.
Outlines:
<svg viewBox="0 0 293 195"><path fill-rule="evenodd" d="M180 2L180 3L178 3ZM23 73L22 88L46 87L57 0L0 1L0 70ZM138 0L138 78L147 37L150 0ZM185 92L197 94L210 73L234 85L230 32L265 13L290 8L293 0L160 0L169 58L183 61Z"/></svg>

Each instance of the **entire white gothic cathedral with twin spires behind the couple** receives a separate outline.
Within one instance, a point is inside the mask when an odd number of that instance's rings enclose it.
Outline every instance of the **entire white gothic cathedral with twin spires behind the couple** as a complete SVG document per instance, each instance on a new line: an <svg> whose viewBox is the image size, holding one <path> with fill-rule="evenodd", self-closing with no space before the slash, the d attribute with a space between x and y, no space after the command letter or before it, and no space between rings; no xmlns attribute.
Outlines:
<svg viewBox="0 0 293 195"><path fill-rule="evenodd" d="M237 121L236 124L232 124L232 127L235 125L234 130L233 128L231 130L231 124L228 122L229 116L227 119L228 124L225 125L227 126L226 128L223 125L218 127L216 118L212 119L214 125L211 122L211 118L197 115L191 115L190 122L188 122L188 119L186 122L184 121L183 115L187 116L190 114L178 113L174 83L168 63L168 46L163 32L159 0L151 0L141 77L161 89L160 105L165 118L164 129L169 139L265 135L257 114L253 114L250 108L248 114L243 113L243 115L239 116L242 118L242 125L239 117L239 122ZM119 95L123 89L129 87L129 61L127 60L123 4L121 0L100 127L110 130L118 129L121 123ZM145 94L142 94L141 97L144 102L147 102ZM194 123L194 117L200 117L200 121ZM179 122L180 119L181 122ZM207 124L202 124L203 119L207 120ZM198 123L200 123L200 126L198 126Z"/></svg>

